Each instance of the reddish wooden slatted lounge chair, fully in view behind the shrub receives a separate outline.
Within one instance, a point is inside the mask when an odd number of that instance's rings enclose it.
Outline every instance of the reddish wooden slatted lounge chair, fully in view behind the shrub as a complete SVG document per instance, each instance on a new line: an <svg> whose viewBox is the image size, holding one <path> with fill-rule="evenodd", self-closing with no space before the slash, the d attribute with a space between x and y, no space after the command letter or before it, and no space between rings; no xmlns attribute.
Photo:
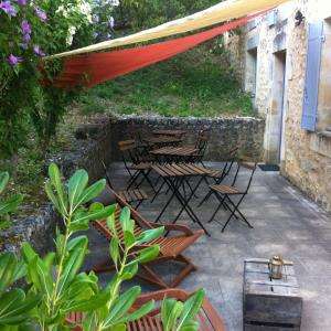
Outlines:
<svg viewBox="0 0 331 331"><path fill-rule="evenodd" d="M119 223L119 214L121 207L124 206L130 207L130 206L116 193L115 193L115 197L118 203L118 209L116 211L116 217L115 217L117 232L120 233L119 238L124 239L124 234L121 233L121 226ZM167 236L167 237L162 236L153 242L146 243L142 246L137 247L138 249L154 244L158 244L160 246L159 256L154 260L148 264L140 265L137 277L148 282L160 286L162 288L175 287L186 275L195 270L195 266L182 253L188 247L190 247L201 235L203 235L204 231L199 229L193 232L189 227L183 225L152 223L145 220L137 211L132 210L131 207L130 210L131 210L131 218L136 221L136 228L135 228L136 235L139 235L145 229L154 228L159 226L164 226L166 232L173 231L180 233L173 236ZM113 234L109 231L106 221L93 222L93 224L104 237L106 237L109 242L111 241ZM183 269L170 282L166 282L164 280L162 280L162 278L158 276L157 273L149 267L150 264L163 263L166 260L175 260L184 265ZM93 270L95 273L106 273L106 271L114 270L114 266L110 264L110 259L108 258L106 261L103 261L102 264L94 267Z"/></svg>

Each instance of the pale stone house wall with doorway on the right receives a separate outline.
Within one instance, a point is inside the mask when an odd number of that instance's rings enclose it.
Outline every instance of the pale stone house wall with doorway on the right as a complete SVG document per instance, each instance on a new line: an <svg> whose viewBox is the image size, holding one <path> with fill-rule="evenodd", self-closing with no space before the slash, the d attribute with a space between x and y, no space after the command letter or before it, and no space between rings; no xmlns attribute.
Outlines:
<svg viewBox="0 0 331 331"><path fill-rule="evenodd" d="M300 10L305 19L295 25ZM275 17L273 17L275 15ZM248 46L256 42L255 105L265 118L264 160L279 162L281 173L313 200L331 211L331 6L327 0L297 0L258 18L246 26L245 78L250 90L252 63ZM323 21L316 132L301 129L308 26ZM249 23L252 25L252 23ZM228 50L232 52L234 46ZM232 56L236 56L234 52ZM282 84L280 72L285 71ZM282 85L282 86L280 86ZM280 102L284 90L284 104ZM281 111L282 110L282 111Z"/></svg>

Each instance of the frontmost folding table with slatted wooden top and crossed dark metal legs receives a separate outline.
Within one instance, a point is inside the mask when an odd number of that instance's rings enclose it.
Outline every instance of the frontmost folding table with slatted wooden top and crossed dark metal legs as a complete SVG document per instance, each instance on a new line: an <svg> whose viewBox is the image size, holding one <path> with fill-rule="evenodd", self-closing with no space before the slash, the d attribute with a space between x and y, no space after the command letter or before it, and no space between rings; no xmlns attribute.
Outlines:
<svg viewBox="0 0 331 331"><path fill-rule="evenodd" d="M196 166L192 163L153 164L152 170L154 170L160 175L160 178L163 179L164 183L168 185L169 190L172 193L168 199L166 205L163 206L162 211L160 212L159 216L157 217L156 222L160 220L171 201L175 197L179 201L181 209L175 218L172 221L172 223L174 224L180 217L180 215L183 213L183 211L185 211L189 217L194 223L197 223L200 227L204 229L205 234L210 235L204 225L199 220L199 217L195 215L192 207L190 206L190 201L194 196L194 193L201 184L203 178L207 175L211 170L202 166ZM184 184L188 181L188 179L193 177L200 177L200 180L193 189L191 188L191 193L186 194L184 191ZM156 195L159 194L159 192L160 189L157 191Z"/></svg>

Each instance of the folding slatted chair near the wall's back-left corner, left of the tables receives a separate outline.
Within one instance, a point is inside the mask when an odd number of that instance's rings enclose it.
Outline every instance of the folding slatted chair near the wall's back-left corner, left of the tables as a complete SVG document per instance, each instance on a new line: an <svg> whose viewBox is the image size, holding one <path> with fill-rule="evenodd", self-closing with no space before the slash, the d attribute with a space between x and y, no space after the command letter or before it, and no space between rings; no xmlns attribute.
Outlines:
<svg viewBox="0 0 331 331"><path fill-rule="evenodd" d="M141 158L139 156L138 147L135 140L125 140L118 142L119 150L121 152L121 158L125 164L125 168L127 169L130 179L128 182L128 188L130 189L132 185L136 185L138 189L142 182L146 180L148 184L151 186L153 192L156 193L154 185L150 181L148 174L151 171L151 164L152 162L148 159ZM138 178L142 175L142 180L138 182Z"/></svg>

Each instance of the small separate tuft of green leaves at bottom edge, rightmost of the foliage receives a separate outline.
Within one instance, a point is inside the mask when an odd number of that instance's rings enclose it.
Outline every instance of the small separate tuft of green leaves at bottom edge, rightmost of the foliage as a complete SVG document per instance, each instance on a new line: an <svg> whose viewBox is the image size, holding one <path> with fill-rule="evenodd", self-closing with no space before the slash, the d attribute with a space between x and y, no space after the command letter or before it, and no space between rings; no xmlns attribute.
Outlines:
<svg viewBox="0 0 331 331"><path fill-rule="evenodd" d="M161 320L164 331L194 331L199 323L194 321L204 300L204 289L197 290L185 302L164 299L161 307Z"/></svg>

